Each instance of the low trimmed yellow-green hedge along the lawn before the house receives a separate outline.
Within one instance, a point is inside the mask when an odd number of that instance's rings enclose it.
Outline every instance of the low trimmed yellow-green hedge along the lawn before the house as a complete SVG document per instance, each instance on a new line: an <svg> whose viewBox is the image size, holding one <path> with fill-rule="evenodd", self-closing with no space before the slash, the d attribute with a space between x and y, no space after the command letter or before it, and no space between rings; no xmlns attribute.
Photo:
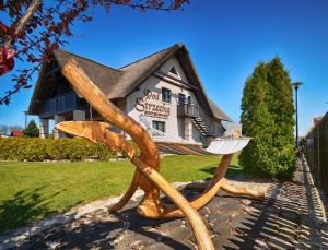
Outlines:
<svg viewBox="0 0 328 250"><path fill-rule="evenodd" d="M108 160L116 155L116 152L110 151L105 144L92 143L81 138L57 140L0 138L0 159L2 160L81 160L91 157Z"/></svg>

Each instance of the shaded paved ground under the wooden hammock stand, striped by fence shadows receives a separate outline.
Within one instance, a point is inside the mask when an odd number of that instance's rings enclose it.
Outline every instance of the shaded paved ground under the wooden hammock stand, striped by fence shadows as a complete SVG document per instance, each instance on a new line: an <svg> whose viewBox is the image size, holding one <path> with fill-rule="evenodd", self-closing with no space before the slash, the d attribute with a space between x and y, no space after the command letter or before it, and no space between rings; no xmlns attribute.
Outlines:
<svg viewBox="0 0 328 250"><path fill-rule="evenodd" d="M188 199L195 190L183 191ZM31 237L20 249L195 249L185 219L153 221L97 210ZM215 249L328 249L324 205L304 159L293 181L271 186L263 202L220 192L200 210Z"/></svg>

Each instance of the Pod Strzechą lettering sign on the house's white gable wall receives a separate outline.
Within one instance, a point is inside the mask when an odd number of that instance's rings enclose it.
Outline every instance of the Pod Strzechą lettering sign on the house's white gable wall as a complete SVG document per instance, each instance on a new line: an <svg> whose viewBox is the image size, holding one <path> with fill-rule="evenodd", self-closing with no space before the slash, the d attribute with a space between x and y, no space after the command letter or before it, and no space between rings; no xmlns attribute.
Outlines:
<svg viewBox="0 0 328 250"><path fill-rule="evenodd" d="M160 93L144 90L143 94L143 98L136 98L136 110L144 112L147 117L167 119L169 116L169 107L165 103L160 103Z"/></svg>

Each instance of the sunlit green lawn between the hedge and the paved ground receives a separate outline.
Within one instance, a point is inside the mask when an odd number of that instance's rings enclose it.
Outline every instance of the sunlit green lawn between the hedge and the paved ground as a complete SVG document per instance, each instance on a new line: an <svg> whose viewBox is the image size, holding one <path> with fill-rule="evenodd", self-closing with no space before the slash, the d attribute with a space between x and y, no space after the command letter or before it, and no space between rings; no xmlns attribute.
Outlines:
<svg viewBox="0 0 328 250"><path fill-rule="evenodd" d="M169 181L212 176L219 156L167 156L161 174ZM122 193L134 171L129 162L0 162L0 234L74 205ZM237 157L227 175L242 172Z"/></svg>

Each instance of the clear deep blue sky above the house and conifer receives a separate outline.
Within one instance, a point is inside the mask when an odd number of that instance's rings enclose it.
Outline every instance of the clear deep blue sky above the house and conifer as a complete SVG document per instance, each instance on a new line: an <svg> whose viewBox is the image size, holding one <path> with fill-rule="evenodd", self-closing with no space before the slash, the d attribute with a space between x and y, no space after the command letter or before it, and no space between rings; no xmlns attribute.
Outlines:
<svg viewBox="0 0 328 250"><path fill-rule="evenodd" d="M77 24L66 50L120 67L184 43L209 96L239 120L243 86L258 61L281 57L300 88L300 134L328 109L327 0L191 0L185 11L145 13L93 10L94 21ZM34 78L34 81L36 76ZM10 78L0 79L0 91ZM0 106L0 124L24 124L32 90Z"/></svg>

